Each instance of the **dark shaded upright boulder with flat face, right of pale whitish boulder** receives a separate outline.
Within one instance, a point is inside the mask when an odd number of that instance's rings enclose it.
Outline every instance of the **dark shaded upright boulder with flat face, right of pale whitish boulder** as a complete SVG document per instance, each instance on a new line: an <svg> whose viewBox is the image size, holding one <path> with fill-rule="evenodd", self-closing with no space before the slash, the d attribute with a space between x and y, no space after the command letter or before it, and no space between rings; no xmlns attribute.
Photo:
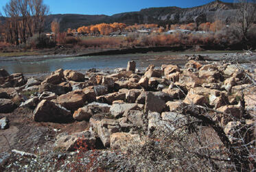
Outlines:
<svg viewBox="0 0 256 172"><path fill-rule="evenodd" d="M161 99L159 95L155 95L154 93L148 92L146 95L146 105L144 112L148 113L148 111L152 112L162 112L166 108L165 101Z"/></svg>

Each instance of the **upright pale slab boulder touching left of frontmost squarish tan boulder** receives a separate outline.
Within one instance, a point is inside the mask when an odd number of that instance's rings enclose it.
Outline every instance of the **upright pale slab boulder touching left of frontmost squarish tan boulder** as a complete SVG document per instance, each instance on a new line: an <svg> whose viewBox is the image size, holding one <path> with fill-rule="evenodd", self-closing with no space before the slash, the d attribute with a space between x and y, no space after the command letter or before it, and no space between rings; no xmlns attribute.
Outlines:
<svg viewBox="0 0 256 172"><path fill-rule="evenodd" d="M110 136L116 132L121 132L121 126L115 119L102 119L97 125L97 134L104 147L110 147Z"/></svg>

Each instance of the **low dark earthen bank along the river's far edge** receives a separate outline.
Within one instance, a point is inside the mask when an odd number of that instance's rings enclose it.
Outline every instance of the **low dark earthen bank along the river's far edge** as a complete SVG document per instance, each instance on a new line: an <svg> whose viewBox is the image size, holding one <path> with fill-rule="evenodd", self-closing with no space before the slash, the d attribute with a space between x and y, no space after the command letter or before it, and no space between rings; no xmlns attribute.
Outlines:
<svg viewBox="0 0 256 172"><path fill-rule="evenodd" d="M124 54L170 53L170 54L205 54L205 53L239 53L241 50L200 50L193 47L133 47L127 49L43 49L32 51L7 51L0 52L0 62L21 61L34 62L55 58L71 58L81 56L113 56Z"/></svg>

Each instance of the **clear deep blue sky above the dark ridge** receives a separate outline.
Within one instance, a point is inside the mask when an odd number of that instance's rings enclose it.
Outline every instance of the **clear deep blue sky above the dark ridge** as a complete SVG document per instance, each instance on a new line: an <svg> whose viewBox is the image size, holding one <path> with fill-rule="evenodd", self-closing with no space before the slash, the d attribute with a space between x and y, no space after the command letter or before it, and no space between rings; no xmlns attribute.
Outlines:
<svg viewBox="0 0 256 172"><path fill-rule="evenodd" d="M9 0L0 0L0 11ZM44 0L51 14L106 14L139 11L142 8L177 6L189 8L213 0ZM233 0L226 0L233 2Z"/></svg>

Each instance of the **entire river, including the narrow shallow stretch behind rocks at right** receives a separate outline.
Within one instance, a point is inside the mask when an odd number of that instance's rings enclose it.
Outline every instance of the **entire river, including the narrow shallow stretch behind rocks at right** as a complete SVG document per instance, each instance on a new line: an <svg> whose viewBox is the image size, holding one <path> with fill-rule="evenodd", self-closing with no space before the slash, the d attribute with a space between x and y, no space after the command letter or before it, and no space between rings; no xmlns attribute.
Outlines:
<svg viewBox="0 0 256 172"><path fill-rule="evenodd" d="M134 60L137 64L137 69L145 69L149 64L154 64L160 67L161 64L178 64L183 66L187 60L185 54L191 53L137 53L115 56L83 56L83 57L54 57L54 58L38 58L38 57L24 57L12 58L12 60L0 59L0 69L5 69L8 73L49 73L57 69L71 69L71 70L88 70L100 69L102 71L111 71L116 68L126 68L127 62ZM236 53L200 53L207 57L208 60L224 60L245 59L244 67L246 69L255 69L256 56L237 55ZM252 64L253 61L253 64ZM201 61L205 63L207 61ZM244 62L243 62L244 63Z"/></svg>

